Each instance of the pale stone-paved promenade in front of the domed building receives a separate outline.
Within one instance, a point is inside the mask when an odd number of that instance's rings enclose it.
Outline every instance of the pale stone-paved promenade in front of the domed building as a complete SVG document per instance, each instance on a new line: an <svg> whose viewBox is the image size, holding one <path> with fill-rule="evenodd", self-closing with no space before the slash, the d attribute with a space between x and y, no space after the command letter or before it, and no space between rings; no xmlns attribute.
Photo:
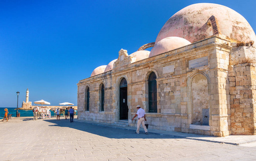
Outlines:
<svg viewBox="0 0 256 161"><path fill-rule="evenodd" d="M216 138L150 128L149 135L137 135L134 127L70 123L63 117L13 118L0 127L0 160L256 160L255 136Z"/></svg>

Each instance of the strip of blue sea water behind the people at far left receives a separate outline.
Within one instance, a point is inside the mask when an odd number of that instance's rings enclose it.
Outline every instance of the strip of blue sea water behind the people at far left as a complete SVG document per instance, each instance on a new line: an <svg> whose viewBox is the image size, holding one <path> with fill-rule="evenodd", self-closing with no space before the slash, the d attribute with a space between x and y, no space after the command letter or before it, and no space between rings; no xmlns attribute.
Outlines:
<svg viewBox="0 0 256 161"><path fill-rule="evenodd" d="M0 107L0 119L3 119L4 117L5 108L8 109L8 112L9 112L8 114L12 114L12 117L16 117L16 112L17 112L16 107ZM34 116L32 109L29 109L29 110L18 109L18 113L20 113L20 117ZM53 111L50 111L50 113L52 114L52 116L54 116Z"/></svg>

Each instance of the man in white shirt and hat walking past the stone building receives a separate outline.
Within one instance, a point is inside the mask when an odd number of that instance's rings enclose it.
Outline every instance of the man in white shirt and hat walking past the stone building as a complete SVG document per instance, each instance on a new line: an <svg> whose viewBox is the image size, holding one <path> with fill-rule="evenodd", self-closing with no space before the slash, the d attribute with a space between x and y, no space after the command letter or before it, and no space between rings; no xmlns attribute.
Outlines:
<svg viewBox="0 0 256 161"><path fill-rule="evenodd" d="M145 121L147 121L145 110L142 109L140 105L137 105L137 109L138 109L138 111L137 111L136 115L133 117L133 120L134 120L134 118L136 118L138 116L136 134L140 134L140 126L141 125L145 130L145 134L148 134L148 129L145 126Z"/></svg>

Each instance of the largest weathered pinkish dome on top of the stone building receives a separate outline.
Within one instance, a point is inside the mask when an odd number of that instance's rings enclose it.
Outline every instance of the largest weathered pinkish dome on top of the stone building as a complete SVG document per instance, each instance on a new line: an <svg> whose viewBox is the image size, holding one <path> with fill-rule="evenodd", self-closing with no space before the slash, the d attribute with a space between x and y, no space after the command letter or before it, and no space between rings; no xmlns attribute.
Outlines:
<svg viewBox="0 0 256 161"><path fill-rule="evenodd" d="M170 36L178 36L190 42L213 35L213 27L207 24L214 16L220 33L238 41L256 40L255 33L247 20L236 11L219 4L198 3L175 13L158 33L156 43Z"/></svg>

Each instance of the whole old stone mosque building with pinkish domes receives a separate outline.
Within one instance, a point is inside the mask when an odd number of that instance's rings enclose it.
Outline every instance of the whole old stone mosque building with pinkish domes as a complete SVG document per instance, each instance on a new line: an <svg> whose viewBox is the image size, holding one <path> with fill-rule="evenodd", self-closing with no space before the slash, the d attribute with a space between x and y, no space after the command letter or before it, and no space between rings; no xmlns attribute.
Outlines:
<svg viewBox="0 0 256 161"><path fill-rule="evenodd" d="M255 135L255 40L236 11L189 5L167 20L155 42L132 54L121 49L78 82L78 119L136 126L131 119L141 105L149 131Z"/></svg>

